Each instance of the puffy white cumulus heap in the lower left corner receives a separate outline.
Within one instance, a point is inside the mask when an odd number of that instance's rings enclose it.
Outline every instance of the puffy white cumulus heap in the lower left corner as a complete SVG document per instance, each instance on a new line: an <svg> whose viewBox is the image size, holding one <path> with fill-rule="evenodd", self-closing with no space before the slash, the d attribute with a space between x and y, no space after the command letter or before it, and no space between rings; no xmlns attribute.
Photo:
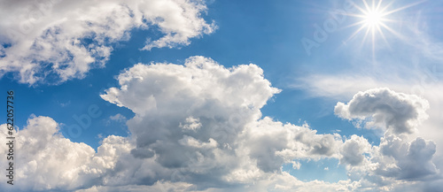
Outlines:
<svg viewBox="0 0 443 192"><path fill-rule="evenodd" d="M6 125L2 125L6 129ZM14 191L72 190L95 184L107 169L113 169L130 145L125 138L105 138L98 152L85 143L71 142L58 132L58 123L48 117L31 116L27 127L15 133L15 184L1 188ZM6 143L2 132L0 142ZM1 151L8 146L2 145ZM2 165L6 158L2 158ZM12 187L12 188L11 188ZM18 190L19 189L19 190Z"/></svg>

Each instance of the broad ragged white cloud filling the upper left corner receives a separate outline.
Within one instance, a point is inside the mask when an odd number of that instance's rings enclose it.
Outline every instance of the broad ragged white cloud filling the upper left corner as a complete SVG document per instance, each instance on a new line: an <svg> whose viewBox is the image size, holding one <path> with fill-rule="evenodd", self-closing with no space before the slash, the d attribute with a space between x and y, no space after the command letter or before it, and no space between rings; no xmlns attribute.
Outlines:
<svg viewBox="0 0 443 192"><path fill-rule="evenodd" d="M1 1L0 75L19 81L63 82L103 67L112 44L135 28L159 30L143 50L187 45L216 28L201 18L203 1ZM154 37L152 37L154 38Z"/></svg>

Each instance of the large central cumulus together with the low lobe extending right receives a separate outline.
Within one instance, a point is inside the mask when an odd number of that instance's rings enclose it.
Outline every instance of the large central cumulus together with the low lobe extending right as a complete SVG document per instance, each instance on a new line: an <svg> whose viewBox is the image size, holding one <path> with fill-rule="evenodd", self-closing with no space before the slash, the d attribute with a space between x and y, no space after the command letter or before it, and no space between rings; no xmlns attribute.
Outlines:
<svg viewBox="0 0 443 192"><path fill-rule="evenodd" d="M257 65L225 68L210 58L138 64L105 100L136 113L128 128L138 157L179 169L181 181L219 187L280 172L294 158L332 157L341 138L261 118L278 93ZM249 173L248 173L249 172Z"/></svg>

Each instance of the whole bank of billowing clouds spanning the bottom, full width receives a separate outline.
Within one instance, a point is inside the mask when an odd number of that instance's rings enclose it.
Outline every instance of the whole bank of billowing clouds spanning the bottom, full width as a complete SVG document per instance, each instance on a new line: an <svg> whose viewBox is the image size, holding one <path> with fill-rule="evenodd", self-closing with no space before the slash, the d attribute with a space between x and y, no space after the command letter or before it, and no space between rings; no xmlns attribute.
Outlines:
<svg viewBox="0 0 443 192"><path fill-rule="evenodd" d="M96 152L64 138L53 119L31 116L27 127L16 133L18 150L28 150L18 154L20 190L379 191L401 189L405 180L414 180L407 183L410 188L441 182L432 161L435 143L390 131L410 120L420 131L420 116L389 124L403 111L344 111L397 104L410 106L402 109L414 113L426 104L416 96L375 88L356 94L347 108L337 104L342 118L385 117L380 119L385 135L377 146L363 136L317 134L307 125L261 117L260 109L280 90L264 79L257 65L225 68L210 58L192 57L185 65L134 65L120 73L118 81L119 87L101 96L135 112L127 122L131 134L106 137ZM386 101L368 103L365 96ZM302 181L280 168L322 158L339 159L349 179ZM4 183L1 188L8 188Z"/></svg>

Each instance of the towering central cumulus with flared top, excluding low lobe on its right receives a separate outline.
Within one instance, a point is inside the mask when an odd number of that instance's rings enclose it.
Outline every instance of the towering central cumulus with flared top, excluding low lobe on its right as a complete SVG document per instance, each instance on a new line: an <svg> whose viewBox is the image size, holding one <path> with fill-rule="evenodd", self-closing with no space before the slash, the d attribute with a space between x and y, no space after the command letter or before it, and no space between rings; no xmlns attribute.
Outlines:
<svg viewBox="0 0 443 192"><path fill-rule="evenodd" d="M279 91L257 65L226 69L202 57L185 65L135 65L118 80L120 88L109 88L102 97L136 113L128 120L134 152L154 151L156 162L180 168L188 181L214 180L209 174L235 167L238 134Z"/></svg>

